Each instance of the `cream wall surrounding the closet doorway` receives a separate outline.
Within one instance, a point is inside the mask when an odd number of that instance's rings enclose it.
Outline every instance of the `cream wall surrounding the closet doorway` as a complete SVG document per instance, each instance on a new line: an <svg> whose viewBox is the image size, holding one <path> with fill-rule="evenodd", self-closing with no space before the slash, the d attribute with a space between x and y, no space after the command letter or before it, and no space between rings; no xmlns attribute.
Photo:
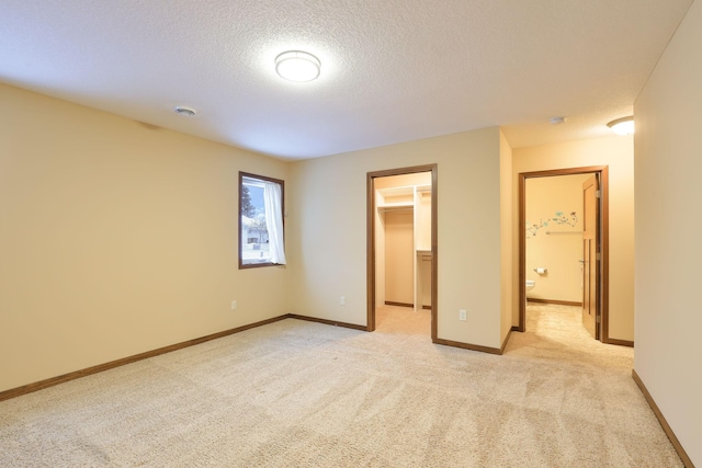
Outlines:
<svg viewBox="0 0 702 468"><path fill-rule="evenodd" d="M500 346L500 132L495 127L293 163L293 311L366 323L366 174L429 163L438 163L439 180L439 338ZM346 306L339 296L346 296ZM467 321L458 321L458 309L468 311Z"/></svg>

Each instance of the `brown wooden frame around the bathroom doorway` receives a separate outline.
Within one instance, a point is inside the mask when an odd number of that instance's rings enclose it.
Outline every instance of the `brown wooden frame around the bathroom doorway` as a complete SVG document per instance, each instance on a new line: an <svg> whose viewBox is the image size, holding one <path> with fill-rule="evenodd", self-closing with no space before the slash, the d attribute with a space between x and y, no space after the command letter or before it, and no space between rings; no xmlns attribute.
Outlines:
<svg viewBox="0 0 702 468"><path fill-rule="evenodd" d="M519 173L519 326L517 331L526 330L526 179L551 178L558 175L599 174L600 180L600 269L597 285L599 341L620 344L619 340L609 336L609 271L610 271L610 228L609 228L609 165L588 165L581 168L552 169Z"/></svg>

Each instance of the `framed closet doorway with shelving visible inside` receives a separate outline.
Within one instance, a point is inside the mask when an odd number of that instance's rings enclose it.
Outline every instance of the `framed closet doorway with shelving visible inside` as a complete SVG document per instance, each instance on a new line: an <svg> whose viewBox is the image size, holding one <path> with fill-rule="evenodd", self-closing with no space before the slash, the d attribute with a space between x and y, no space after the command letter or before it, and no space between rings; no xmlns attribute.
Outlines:
<svg viewBox="0 0 702 468"><path fill-rule="evenodd" d="M389 317L435 341L437 164L369 172L366 196L367 331Z"/></svg>

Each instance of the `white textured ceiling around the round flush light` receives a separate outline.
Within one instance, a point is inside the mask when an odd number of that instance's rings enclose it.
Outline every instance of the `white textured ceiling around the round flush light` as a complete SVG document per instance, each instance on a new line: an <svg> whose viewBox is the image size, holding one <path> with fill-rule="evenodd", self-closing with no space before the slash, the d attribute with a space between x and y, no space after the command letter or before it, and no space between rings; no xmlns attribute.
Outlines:
<svg viewBox="0 0 702 468"><path fill-rule="evenodd" d="M0 81L282 159L495 125L518 148L608 135L691 3L2 0ZM288 49L320 78L279 78Z"/></svg>

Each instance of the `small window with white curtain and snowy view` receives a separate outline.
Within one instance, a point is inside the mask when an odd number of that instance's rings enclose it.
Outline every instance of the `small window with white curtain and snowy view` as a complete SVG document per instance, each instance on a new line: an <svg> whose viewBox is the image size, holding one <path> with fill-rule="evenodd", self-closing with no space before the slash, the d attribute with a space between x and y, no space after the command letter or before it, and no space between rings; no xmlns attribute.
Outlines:
<svg viewBox="0 0 702 468"><path fill-rule="evenodd" d="M239 269L285 264L283 181L239 172Z"/></svg>

